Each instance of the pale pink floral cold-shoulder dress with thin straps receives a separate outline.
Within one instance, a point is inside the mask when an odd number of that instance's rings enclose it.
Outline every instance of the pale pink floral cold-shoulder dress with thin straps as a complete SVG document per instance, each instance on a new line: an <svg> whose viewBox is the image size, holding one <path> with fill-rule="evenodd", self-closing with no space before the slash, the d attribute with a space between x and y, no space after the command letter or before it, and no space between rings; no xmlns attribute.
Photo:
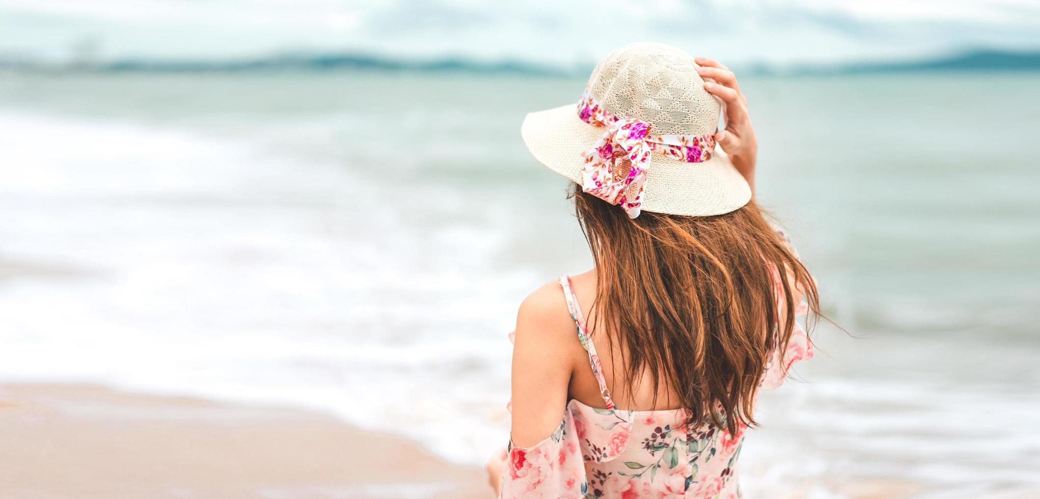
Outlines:
<svg viewBox="0 0 1040 499"><path fill-rule="evenodd" d="M560 427L547 439L531 447L511 443L500 497L739 498L736 464L747 426L731 435L707 423L685 428L681 409L616 409L570 278L561 278L560 285L607 409L571 399ZM805 314L804 304L797 312ZM791 364L812 357L812 343L801 326L796 325L784 353L773 353L761 388L779 387Z"/></svg>

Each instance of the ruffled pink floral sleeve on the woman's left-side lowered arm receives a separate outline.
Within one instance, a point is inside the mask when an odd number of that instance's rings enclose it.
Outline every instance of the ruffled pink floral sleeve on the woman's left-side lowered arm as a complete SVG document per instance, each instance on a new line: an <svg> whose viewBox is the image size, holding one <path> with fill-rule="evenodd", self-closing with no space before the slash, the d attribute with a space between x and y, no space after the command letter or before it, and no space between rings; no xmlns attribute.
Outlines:
<svg viewBox="0 0 1040 499"><path fill-rule="evenodd" d="M589 485L573 420L565 417L560 428L535 446L511 442L501 483L501 499L583 498Z"/></svg>

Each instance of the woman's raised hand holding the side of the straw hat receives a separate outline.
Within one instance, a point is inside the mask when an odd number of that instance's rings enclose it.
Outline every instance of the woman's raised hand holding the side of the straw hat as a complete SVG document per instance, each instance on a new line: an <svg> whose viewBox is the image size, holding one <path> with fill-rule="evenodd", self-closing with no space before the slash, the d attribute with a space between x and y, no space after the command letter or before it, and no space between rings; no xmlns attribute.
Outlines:
<svg viewBox="0 0 1040 499"><path fill-rule="evenodd" d="M755 160L758 157L758 140L748 117L748 100L736 84L736 76L728 68L707 57L694 58L700 68L701 78L710 78L714 83L704 83L704 89L726 103L726 129L716 133L716 141L729 155L736 170L744 176L755 190Z"/></svg>

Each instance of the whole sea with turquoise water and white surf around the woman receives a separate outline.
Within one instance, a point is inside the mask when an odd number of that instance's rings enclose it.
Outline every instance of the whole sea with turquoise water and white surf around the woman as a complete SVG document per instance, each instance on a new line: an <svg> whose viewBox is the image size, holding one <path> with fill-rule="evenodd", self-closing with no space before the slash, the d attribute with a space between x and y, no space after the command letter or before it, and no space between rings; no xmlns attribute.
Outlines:
<svg viewBox="0 0 1040 499"><path fill-rule="evenodd" d="M765 397L749 493L1040 488L1038 84L742 80L759 201L855 336L818 330L807 383ZM0 375L298 403L482 463L517 305L590 264L566 182L518 133L582 87L2 75Z"/></svg>

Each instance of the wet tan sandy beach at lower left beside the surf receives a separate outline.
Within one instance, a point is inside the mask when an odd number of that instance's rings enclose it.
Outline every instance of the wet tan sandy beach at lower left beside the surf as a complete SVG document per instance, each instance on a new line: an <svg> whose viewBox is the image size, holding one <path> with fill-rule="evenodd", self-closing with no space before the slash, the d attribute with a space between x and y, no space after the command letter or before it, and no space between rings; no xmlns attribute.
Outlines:
<svg viewBox="0 0 1040 499"><path fill-rule="evenodd" d="M3 497L487 498L483 472L306 411L0 386Z"/></svg>

